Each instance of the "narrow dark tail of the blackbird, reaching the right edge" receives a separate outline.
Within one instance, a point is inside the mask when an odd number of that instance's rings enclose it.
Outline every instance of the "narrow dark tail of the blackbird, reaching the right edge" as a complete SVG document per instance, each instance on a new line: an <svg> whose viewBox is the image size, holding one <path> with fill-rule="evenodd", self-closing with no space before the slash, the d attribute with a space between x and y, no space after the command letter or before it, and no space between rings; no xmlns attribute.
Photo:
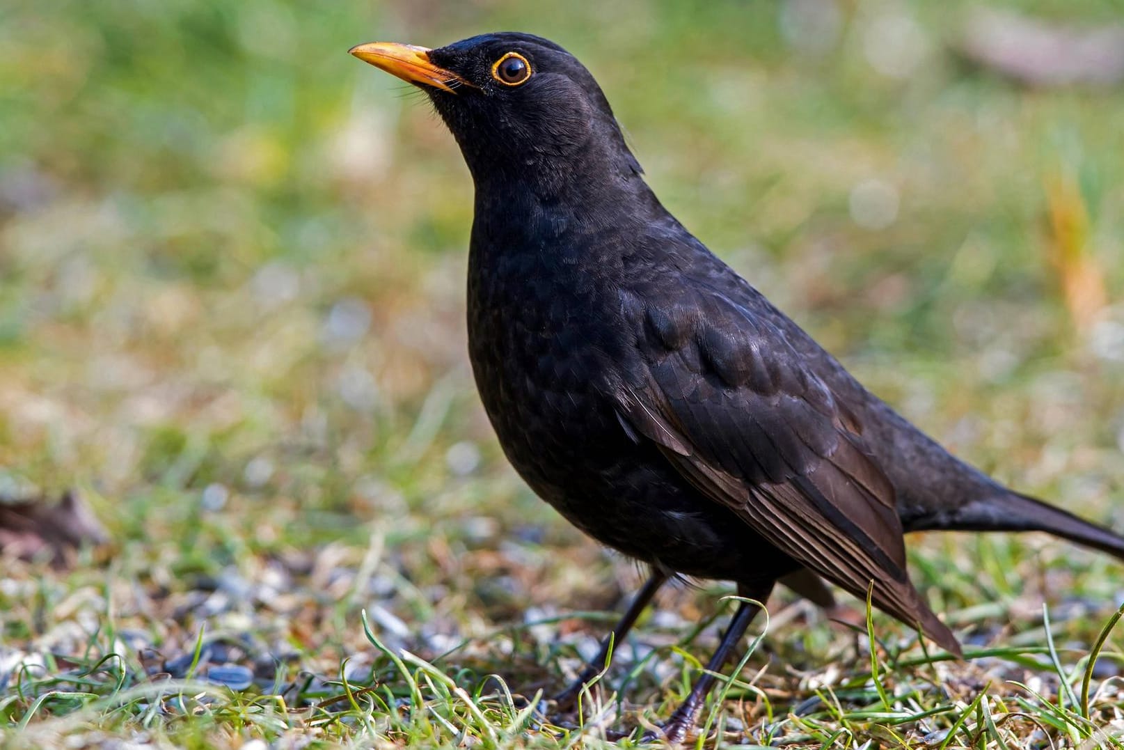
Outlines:
<svg viewBox="0 0 1124 750"><path fill-rule="evenodd" d="M918 519L908 528L927 530L1044 531L1124 560L1124 536L1017 493L972 500L939 517Z"/></svg>

